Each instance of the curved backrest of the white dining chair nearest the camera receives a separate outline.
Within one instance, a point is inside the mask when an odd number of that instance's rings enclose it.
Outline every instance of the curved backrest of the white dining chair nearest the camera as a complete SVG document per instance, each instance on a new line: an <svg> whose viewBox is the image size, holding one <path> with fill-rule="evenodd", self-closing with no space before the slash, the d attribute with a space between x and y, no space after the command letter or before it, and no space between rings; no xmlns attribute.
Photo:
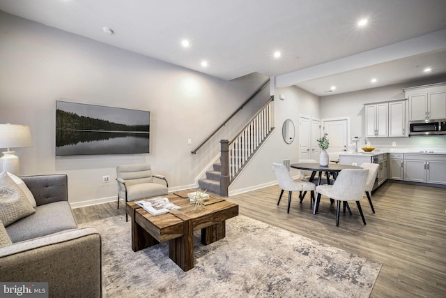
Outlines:
<svg viewBox="0 0 446 298"><path fill-rule="evenodd" d="M330 191L335 200L359 201L365 192L368 169L345 169L339 172Z"/></svg>

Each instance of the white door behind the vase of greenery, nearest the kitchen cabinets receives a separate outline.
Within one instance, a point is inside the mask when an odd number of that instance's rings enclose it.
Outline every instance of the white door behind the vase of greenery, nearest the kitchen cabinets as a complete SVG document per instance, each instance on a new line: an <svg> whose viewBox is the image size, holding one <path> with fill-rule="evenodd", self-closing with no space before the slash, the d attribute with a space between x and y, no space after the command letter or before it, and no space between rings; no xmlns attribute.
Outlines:
<svg viewBox="0 0 446 298"><path fill-rule="evenodd" d="M347 151L348 144L348 122L346 119L323 119L323 133L328 133L327 138L330 146L327 152L341 153Z"/></svg>

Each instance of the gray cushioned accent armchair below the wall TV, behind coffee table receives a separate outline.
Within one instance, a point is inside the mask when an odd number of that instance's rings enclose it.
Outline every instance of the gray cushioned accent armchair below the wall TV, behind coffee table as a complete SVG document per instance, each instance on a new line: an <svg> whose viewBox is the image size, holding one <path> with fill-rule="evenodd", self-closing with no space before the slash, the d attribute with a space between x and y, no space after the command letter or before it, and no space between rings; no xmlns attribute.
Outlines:
<svg viewBox="0 0 446 298"><path fill-rule="evenodd" d="M118 181L118 209L121 198L125 202L129 202L169 193L169 183L166 177L160 174L152 174L151 165L148 163L118 165L116 167L116 177L116 181ZM155 183L153 178L164 180L166 185ZM125 221L128 221L127 212L125 213Z"/></svg>

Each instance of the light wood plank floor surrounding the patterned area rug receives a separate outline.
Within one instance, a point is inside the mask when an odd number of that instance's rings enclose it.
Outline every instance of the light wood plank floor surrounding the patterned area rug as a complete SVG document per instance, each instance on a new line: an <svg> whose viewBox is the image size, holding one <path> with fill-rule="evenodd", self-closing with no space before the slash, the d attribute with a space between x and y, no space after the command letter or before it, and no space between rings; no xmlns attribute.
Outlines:
<svg viewBox="0 0 446 298"><path fill-rule="evenodd" d="M339 227L328 198L313 215L309 193L302 204L293 193L287 214L288 195L277 206L279 193L279 186L270 186L227 200L239 204L240 214L383 263L371 297L446 297L445 188L387 181L372 195L376 214L367 198L361 200L367 225L351 204L353 215L341 214ZM78 223L124 214L116 202L73 211Z"/></svg>

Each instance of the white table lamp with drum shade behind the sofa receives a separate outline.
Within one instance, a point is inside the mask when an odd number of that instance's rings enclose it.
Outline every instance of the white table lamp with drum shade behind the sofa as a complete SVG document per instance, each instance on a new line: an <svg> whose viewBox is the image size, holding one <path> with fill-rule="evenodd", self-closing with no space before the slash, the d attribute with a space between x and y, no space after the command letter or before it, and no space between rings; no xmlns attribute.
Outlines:
<svg viewBox="0 0 446 298"><path fill-rule="evenodd" d="M15 156L10 148L32 147L31 131L25 125L0 124L0 148L7 148L0 158L0 165L3 165L3 171L12 174L20 174L19 158Z"/></svg>

